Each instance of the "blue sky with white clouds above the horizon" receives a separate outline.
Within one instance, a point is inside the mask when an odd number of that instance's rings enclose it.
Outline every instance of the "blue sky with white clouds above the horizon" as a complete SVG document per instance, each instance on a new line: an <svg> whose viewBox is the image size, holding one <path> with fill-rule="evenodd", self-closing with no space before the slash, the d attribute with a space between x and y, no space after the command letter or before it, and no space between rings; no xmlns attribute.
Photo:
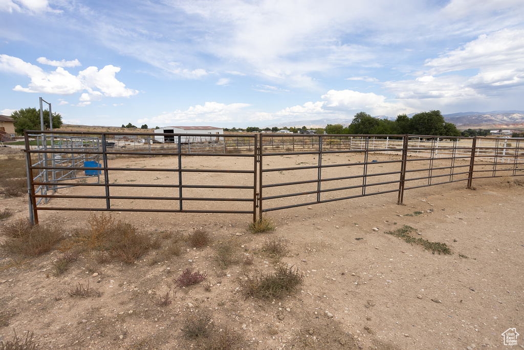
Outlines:
<svg viewBox="0 0 524 350"><path fill-rule="evenodd" d="M0 0L0 113L265 127L524 110L522 0Z"/></svg>

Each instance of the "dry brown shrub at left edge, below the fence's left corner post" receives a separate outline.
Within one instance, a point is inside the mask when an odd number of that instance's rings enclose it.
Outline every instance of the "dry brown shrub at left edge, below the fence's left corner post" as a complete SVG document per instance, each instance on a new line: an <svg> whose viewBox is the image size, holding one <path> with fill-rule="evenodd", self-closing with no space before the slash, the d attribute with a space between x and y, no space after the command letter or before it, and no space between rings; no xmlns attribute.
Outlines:
<svg viewBox="0 0 524 350"><path fill-rule="evenodd" d="M38 256L50 251L64 238L60 228L31 225L29 219L19 219L6 225L4 233L8 239L0 248L26 256Z"/></svg>

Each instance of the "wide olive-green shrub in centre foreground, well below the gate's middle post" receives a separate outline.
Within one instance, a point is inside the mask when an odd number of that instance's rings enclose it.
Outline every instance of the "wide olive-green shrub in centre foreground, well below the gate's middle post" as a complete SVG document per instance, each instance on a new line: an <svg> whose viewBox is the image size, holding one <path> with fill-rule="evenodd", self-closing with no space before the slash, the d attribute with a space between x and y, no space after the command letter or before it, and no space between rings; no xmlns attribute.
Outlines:
<svg viewBox="0 0 524 350"><path fill-rule="evenodd" d="M274 299L294 292L297 285L301 284L303 280L302 273L299 273L297 269L281 266L274 273L261 272L260 275L247 277L247 280L241 281L240 284L246 296L253 296L257 299Z"/></svg>

